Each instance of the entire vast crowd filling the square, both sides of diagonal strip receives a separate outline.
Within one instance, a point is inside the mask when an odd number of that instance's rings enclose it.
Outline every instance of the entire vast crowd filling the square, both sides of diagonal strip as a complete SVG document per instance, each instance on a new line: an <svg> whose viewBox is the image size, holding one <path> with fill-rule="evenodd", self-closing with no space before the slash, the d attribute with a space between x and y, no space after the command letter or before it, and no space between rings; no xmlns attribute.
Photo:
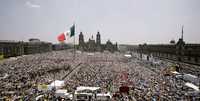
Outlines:
<svg viewBox="0 0 200 101"><path fill-rule="evenodd" d="M0 97L28 96L38 84L54 80L64 80L69 92L78 86L90 86L115 94L121 86L128 86L130 91L125 97L137 101L187 101L199 97L199 92L183 85L187 81L166 75L164 71L172 65L134 55L127 58L120 52L63 50L19 56L0 61Z"/></svg>

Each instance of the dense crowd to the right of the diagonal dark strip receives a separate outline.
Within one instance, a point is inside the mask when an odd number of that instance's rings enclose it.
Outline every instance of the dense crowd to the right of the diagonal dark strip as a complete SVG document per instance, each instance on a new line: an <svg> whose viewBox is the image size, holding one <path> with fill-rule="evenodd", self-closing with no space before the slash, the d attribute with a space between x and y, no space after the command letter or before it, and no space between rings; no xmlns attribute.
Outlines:
<svg viewBox="0 0 200 101"><path fill-rule="evenodd" d="M104 61L98 61L103 59ZM166 73L174 65L169 61L159 59L147 61L136 57L127 59L120 53L102 53L100 56L93 54L86 60L86 64L82 65L67 81L67 85L71 88L98 86L104 92L115 93L120 86L125 84L132 87L129 96L141 101L187 101L200 97L199 92L185 86L188 81ZM127 77L124 78L126 75Z"/></svg>

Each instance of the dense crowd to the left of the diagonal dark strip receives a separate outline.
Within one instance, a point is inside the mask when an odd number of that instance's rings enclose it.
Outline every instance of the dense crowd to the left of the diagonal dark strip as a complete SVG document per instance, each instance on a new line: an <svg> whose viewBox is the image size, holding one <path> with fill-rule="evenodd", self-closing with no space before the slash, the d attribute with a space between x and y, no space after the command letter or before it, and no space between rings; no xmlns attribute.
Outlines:
<svg viewBox="0 0 200 101"><path fill-rule="evenodd" d="M76 63L73 52L54 51L0 61L0 96L29 94L34 86L61 79Z"/></svg>

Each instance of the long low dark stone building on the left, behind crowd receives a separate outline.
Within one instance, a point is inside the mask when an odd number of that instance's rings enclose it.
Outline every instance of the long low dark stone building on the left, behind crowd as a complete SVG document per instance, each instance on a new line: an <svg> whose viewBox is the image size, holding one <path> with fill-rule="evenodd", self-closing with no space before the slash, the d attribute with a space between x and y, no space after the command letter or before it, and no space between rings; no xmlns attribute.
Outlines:
<svg viewBox="0 0 200 101"><path fill-rule="evenodd" d="M29 39L29 42L0 40L0 57L3 58L49 51L52 51L52 43L39 39Z"/></svg>

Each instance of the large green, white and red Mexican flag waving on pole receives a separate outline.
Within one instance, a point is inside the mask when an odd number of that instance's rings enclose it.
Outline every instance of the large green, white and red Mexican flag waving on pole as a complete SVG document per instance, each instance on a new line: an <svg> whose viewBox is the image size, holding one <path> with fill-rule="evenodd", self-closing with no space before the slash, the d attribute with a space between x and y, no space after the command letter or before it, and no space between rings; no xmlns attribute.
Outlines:
<svg viewBox="0 0 200 101"><path fill-rule="evenodd" d="M58 35L57 39L59 42L65 41L67 38L71 38L75 35L75 25L70 27L70 30L62 32Z"/></svg>

